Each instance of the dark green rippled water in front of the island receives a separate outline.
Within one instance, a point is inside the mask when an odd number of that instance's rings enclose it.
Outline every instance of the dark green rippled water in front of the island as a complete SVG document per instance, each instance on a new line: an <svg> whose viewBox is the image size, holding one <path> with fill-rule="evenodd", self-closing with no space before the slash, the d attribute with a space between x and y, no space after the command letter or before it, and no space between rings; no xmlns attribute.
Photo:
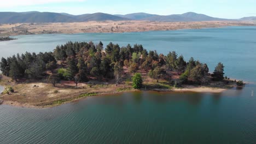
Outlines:
<svg viewBox="0 0 256 144"><path fill-rule="evenodd" d="M255 86L124 93L36 110L0 106L1 143L255 143Z"/></svg>

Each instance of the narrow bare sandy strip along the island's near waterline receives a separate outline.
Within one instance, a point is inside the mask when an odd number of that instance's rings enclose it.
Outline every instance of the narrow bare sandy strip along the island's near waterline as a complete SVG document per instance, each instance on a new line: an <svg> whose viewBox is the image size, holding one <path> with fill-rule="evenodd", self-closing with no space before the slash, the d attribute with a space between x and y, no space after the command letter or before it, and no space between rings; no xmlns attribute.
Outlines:
<svg viewBox="0 0 256 144"><path fill-rule="evenodd" d="M232 87L230 87L232 88ZM164 89L164 88L152 88L152 89L130 89L129 91L112 91L112 92L103 92L103 93L97 93L92 96L85 96L80 98L71 98L69 100L60 99L63 100L63 102L59 104L42 104L42 105L33 105L30 103L20 103L18 101L12 101L12 100L3 100L2 105L10 105L14 107L25 107L25 108L33 108L33 109L50 109L52 107L60 106L63 104L72 103L74 101L79 100L85 100L88 97L97 97L97 96L106 96L106 95L117 95L117 94L123 94L123 93L132 93L132 92L166 92L166 93L222 93L225 91L228 91L230 88L213 88L213 87L196 87L196 86L185 86L183 88L172 88L172 89ZM1 105L1 104L0 104Z"/></svg>

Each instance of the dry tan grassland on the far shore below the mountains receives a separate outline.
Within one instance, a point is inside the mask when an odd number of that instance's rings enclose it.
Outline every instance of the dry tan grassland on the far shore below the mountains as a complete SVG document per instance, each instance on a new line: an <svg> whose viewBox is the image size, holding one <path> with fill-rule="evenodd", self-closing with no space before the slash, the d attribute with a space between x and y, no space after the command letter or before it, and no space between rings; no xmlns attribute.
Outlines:
<svg viewBox="0 0 256 144"><path fill-rule="evenodd" d="M143 31L171 31L224 26L256 26L253 21L90 21L72 23L15 23L0 25L0 36L44 33L122 33Z"/></svg>

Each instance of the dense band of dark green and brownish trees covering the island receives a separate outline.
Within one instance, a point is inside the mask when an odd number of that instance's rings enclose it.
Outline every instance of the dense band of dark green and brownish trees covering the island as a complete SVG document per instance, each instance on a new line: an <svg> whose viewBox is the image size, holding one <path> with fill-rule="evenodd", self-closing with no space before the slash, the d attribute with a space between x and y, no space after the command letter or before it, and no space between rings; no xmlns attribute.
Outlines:
<svg viewBox="0 0 256 144"><path fill-rule="evenodd" d="M210 79L224 79L224 66L218 63L212 75L208 74L207 64L195 61L193 57L188 62L178 56L175 51L166 56L156 51L147 51L142 45L120 47L109 43L106 48L100 41L72 42L58 45L53 52L22 53L3 58L0 70L3 75L14 80L48 79L53 86L57 80L71 80L75 83L90 79L115 79L120 83L124 68L135 74L139 69L147 71L148 76L156 79L164 78L168 72L175 71L180 75L179 83L207 83ZM211 77L211 78L210 78Z"/></svg>

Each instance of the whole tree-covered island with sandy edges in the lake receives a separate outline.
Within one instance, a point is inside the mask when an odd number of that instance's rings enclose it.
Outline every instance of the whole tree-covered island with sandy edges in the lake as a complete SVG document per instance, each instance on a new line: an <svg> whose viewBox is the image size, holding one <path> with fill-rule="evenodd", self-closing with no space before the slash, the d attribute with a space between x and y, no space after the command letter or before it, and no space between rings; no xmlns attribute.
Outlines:
<svg viewBox="0 0 256 144"><path fill-rule="evenodd" d="M224 76L224 65L212 74L207 64L182 55L147 51L142 45L120 47L102 42L72 42L53 52L25 52L2 58L0 97L4 104L52 107L94 95L134 91L223 92L242 86Z"/></svg>

